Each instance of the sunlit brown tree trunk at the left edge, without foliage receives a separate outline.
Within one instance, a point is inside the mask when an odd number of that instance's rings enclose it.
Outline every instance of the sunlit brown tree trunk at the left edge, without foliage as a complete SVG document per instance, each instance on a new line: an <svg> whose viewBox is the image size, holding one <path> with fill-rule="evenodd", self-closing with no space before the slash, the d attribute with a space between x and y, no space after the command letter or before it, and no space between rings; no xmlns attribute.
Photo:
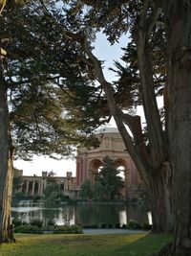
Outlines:
<svg viewBox="0 0 191 256"><path fill-rule="evenodd" d="M0 78L0 243L13 241L11 225L12 151L7 87Z"/></svg>

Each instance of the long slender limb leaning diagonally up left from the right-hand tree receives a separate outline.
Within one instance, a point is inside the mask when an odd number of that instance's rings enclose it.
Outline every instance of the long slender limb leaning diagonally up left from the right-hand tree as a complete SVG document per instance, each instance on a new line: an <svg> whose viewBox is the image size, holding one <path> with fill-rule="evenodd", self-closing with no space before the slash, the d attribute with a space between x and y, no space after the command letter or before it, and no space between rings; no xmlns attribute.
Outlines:
<svg viewBox="0 0 191 256"><path fill-rule="evenodd" d="M136 148L134 146L134 143L132 141L130 134L128 133L127 129L124 126L123 119L121 118L121 112L115 102L112 84L110 82L106 81L106 79L103 75L101 62L92 53L91 46L90 46L88 40L86 39L86 36L82 35L80 33L74 34L72 32L68 32L68 31L64 30L62 28L62 26L60 24L58 24L58 22L53 18L53 15L50 12L48 12L48 10L46 9L46 7L43 3L43 0L39 0L39 1L42 4L45 12L47 12L49 14L49 17L52 19L53 23L57 25L57 27L59 28L62 35L65 38L68 38L72 41L80 43L85 54L87 55L89 60L91 60L91 65L94 64L97 81L99 81L99 83L101 84L101 86L103 87L103 89L105 91L110 112L114 116L114 119L117 124L117 128L121 134L124 145L125 145L127 151L130 153L132 159L134 160L134 162L138 168L138 171L140 172L140 175L143 178L144 182L148 184L149 178L148 178L147 171L149 171L148 170L149 168L148 168L148 166L145 166L145 163L144 163L141 155L138 153L138 151L136 150ZM85 62L87 64L87 61L85 61Z"/></svg>

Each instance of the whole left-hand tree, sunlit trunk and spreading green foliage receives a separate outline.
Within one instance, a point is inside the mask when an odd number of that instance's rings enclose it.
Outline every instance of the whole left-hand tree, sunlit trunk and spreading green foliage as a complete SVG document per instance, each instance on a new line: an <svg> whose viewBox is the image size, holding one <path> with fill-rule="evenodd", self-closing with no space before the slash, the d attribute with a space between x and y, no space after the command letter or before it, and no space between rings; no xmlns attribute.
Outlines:
<svg viewBox="0 0 191 256"><path fill-rule="evenodd" d="M23 158L31 157L32 153L51 154L53 157L58 153L61 156L68 155L71 152L69 141L73 145L80 140L87 142L86 133L90 133L90 128L86 130L84 118L76 122L71 116L71 113L77 110L73 107L74 101L80 102L79 97L78 99L75 97L77 87L73 89L73 82L78 83L78 92L81 90L80 86L88 85L82 75L79 76L83 71L82 65L77 65L76 68L73 66L73 77L71 77L70 61L73 63L76 61L77 48L74 48L69 41L60 38L56 30L56 33L53 32L52 22L47 20L44 13L38 12L38 8L32 5L31 1L27 3L9 1L4 15L0 18L2 49L0 243L2 243L13 240L11 185L14 151L16 150L17 156ZM50 42L50 38L54 38L54 43ZM54 48L58 51L54 52ZM68 92L69 87L71 94ZM93 94L91 86L83 95L83 101L90 94ZM65 110L63 102L66 103ZM99 116L100 114L97 118ZM92 124L96 122L92 120ZM79 131L80 126L82 128Z"/></svg>

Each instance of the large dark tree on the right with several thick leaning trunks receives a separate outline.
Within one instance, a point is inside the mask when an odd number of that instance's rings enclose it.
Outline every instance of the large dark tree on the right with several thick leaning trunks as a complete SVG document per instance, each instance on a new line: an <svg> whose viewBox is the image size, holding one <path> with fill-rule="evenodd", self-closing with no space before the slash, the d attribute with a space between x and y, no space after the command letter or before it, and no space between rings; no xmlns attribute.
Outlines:
<svg viewBox="0 0 191 256"><path fill-rule="evenodd" d="M62 28L61 33L81 44L81 59L90 71L94 70L92 74L105 91L117 128L144 181L154 229L163 231L174 227L175 239L170 253L190 255L190 2L84 0L68 3L71 3L68 18L81 24L81 28L74 31ZM115 98L116 86L104 78L102 63L92 53L91 37L87 38L91 29L92 32L102 29L112 43L127 31L131 34L138 64L138 94L146 118L146 141L140 117L121 111ZM163 54L157 55L161 60L159 69L163 68L166 74L162 82L153 58L154 53L162 50L159 37L165 45ZM158 82L164 98L164 124L156 100ZM126 88L128 86L126 84ZM133 137L125 125L131 129Z"/></svg>

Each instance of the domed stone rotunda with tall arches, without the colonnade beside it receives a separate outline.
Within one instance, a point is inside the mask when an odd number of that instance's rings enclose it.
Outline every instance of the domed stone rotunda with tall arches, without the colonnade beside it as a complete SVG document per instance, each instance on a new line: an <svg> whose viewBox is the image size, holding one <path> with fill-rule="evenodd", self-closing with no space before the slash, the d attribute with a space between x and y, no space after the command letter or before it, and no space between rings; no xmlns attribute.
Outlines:
<svg viewBox="0 0 191 256"><path fill-rule="evenodd" d="M76 159L76 188L79 189L85 179L94 182L95 174L102 166L102 160L109 156L114 160L115 167L119 168L124 176L124 198L135 198L138 193L140 177L138 170L126 151L122 138L117 128L100 128L96 131L96 137L100 142L97 149L88 150L80 148Z"/></svg>

